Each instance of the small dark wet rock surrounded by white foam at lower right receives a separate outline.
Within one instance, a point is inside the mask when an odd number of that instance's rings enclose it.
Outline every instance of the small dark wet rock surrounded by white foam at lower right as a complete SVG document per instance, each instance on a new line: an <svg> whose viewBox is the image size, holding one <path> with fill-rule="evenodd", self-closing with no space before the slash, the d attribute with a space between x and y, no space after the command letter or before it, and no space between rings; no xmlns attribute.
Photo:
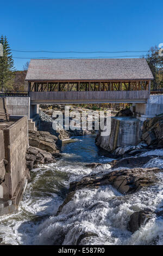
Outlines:
<svg viewBox="0 0 163 256"><path fill-rule="evenodd" d="M152 211L139 211L131 214L127 229L134 233L141 225L145 225L152 218Z"/></svg>

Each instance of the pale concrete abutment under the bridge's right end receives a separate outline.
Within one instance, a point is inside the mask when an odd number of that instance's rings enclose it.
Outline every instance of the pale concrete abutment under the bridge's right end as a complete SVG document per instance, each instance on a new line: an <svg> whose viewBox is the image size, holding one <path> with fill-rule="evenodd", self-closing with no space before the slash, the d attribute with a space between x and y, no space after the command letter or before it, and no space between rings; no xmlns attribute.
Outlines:
<svg viewBox="0 0 163 256"><path fill-rule="evenodd" d="M163 95L151 95L147 103L135 103L133 114L141 121L145 121L147 118L153 118L156 115L163 113Z"/></svg>

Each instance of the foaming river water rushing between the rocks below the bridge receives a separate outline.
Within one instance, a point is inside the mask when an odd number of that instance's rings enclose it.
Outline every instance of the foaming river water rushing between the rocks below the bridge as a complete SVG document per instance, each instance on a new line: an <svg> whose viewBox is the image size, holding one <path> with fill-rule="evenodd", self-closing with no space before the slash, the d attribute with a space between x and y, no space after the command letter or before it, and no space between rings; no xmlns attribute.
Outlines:
<svg viewBox="0 0 163 256"><path fill-rule="evenodd" d="M146 154L153 154L152 151ZM156 157L147 167L162 168L163 150L155 151ZM74 199L55 216L65 199L69 183L89 175L92 169L86 163L104 163L93 172L109 172L111 158L105 157L95 145L95 136L80 136L65 141L62 157L57 163L40 165L31 172L19 211L0 218L0 237L12 245L76 245L84 231L98 236L88 237L82 245L162 245L163 220L155 215L134 234L127 231L131 213L163 207L162 180L155 186L133 195L122 195L111 186L82 189Z"/></svg>

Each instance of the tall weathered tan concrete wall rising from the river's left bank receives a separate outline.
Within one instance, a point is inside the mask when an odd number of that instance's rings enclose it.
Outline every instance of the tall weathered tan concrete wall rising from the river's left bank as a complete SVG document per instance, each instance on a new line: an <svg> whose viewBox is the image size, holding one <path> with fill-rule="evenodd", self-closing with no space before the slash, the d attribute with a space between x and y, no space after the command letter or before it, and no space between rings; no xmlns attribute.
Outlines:
<svg viewBox="0 0 163 256"><path fill-rule="evenodd" d="M23 117L3 130L6 166L3 198L20 200L21 190L27 183L26 150L28 147L28 119Z"/></svg>

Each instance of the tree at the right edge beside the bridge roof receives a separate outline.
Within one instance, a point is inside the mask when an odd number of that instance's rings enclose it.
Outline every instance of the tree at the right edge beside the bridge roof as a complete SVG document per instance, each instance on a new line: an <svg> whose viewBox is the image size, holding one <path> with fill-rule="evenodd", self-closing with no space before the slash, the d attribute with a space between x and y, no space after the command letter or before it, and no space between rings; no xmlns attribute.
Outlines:
<svg viewBox="0 0 163 256"><path fill-rule="evenodd" d="M152 89L160 89L163 84L163 57L159 56L159 48L157 46L151 47L145 56L149 68L153 74L154 80L152 82Z"/></svg>

